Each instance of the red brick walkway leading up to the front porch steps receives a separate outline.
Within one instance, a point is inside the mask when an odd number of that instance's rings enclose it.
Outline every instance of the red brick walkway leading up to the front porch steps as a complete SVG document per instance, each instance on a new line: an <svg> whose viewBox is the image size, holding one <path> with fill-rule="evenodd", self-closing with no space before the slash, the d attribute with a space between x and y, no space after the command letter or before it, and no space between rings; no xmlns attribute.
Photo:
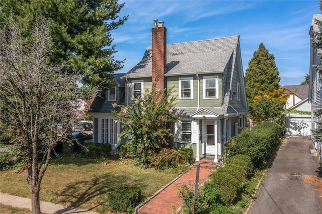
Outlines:
<svg viewBox="0 0 322 214"><path fill-rule="evenodd" d="M179 190L176 187L180 187L181 184L195 187L196 180L196 168L192 168L187 173L182 175L167 188L159 192L150 201L144 204L140 209L141 214L172 214L176 211L180 205L182 205L182 199L177 197ZM204 183L208 176L213 172L211 169L200 169L199 171L199 186Z"/></svg>

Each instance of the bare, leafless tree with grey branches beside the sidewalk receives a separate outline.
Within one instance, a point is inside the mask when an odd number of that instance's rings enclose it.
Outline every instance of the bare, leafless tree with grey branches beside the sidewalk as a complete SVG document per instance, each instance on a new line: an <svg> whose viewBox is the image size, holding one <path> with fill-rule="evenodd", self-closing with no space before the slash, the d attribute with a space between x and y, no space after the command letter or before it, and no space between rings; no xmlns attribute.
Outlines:
<svg viewBox="0 0 322 214"><path fill-rule="evenodd" d="M78 100L96 91L79 88L79 74L68 73L67 64L48 64L52 52L46 21L37 21L29 33L26 40L14 21L0 29L0 121L16 130L15 142L26 153L32 213L40 213L40 184L54 146L71 143Z"/></svg>

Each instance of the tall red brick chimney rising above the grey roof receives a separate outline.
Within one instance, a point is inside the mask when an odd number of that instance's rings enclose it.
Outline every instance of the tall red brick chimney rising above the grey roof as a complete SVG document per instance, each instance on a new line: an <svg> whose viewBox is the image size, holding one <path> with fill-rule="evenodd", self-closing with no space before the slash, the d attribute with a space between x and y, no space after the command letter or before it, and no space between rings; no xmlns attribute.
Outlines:
<svg viewBox="0 0 322 214"><path fill-rule="evenodd" d="M164 22L158 22L155 19L152 28L152 86L155 86L154 89L162 90L166 87L166 69L167 28L164 27Z"/></svg>

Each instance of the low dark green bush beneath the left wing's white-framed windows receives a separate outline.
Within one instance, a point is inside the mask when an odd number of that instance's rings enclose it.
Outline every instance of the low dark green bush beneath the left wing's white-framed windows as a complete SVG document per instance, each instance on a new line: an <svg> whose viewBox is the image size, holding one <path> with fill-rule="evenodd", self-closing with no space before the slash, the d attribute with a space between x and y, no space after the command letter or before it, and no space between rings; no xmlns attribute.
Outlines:
<svg viewBox="0 0 322 214"><path fill-rule="evenodd" d="M112 150L111 144L108 143L86 143L83 145L85 147L82 148L84 155L92 159L107 157Z"/></svg>

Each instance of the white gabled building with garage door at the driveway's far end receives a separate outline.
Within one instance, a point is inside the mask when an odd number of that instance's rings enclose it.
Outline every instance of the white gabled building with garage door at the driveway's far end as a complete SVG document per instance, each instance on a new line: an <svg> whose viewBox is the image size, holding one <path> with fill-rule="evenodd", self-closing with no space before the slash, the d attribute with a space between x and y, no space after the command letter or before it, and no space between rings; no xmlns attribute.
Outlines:
<svg viewBox="0 0 322 214"><path fill-rule="evenodd" d="M295 110L294 113L285 114L285 128L288 135L311 135L311 114L299 114L296 111L311 112L308 102L309 85L284 85L284 92L290 94L284 110Z"/></svg>

